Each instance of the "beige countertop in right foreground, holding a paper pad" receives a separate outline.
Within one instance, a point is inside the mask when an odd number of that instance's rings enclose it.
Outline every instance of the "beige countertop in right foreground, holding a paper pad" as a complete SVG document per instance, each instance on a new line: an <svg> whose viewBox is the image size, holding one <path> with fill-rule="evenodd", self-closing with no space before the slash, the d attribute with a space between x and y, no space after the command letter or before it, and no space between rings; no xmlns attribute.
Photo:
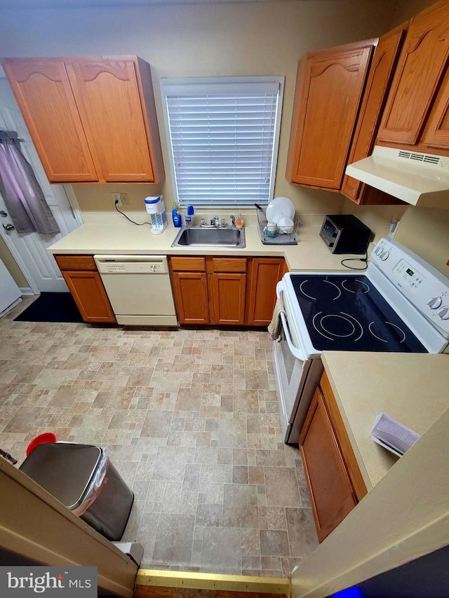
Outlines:
<svg viewBox="0 0 449 598"><path fill-rule="evenodd" d="M424 434L449 407L449 355L324 351L322 359L369 491L399 459L371 440L377 415Z"/></svg>

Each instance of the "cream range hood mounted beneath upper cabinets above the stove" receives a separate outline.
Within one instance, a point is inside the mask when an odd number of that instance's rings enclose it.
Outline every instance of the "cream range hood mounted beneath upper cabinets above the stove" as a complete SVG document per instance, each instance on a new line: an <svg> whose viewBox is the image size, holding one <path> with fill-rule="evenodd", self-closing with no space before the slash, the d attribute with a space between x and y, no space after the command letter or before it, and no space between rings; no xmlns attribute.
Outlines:
<svg viewBox="0 0 449 598"><path fill-rule="evenodd" d="M346 174L425 208L449 209L449 158L376 145L373 155L347 165Z"/></svg>

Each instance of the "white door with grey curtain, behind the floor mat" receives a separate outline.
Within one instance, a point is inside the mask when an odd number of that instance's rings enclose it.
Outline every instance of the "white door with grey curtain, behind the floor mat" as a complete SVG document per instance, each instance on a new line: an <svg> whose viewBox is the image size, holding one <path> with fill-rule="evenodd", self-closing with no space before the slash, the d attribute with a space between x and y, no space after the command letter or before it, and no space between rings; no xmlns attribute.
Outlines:
<svg viewBox="0 0 449 598"><path fill-rule="evenodd" d="M11 87L6 79L0 79L0 128L17 131L20 139L23 140L20 143L22 154L32 165L34 174L42 187L46 201L61 231L58 235L18 233L11 228L11 218L0 194L0 223L3 225L0 226L0 234L10 247L35 294L42 291L67 292L68 288L64 278L62 278L60 269L58 269L53 255L48 253L46 248L76 229L79 224L74 217L65 186L51 185L48 182L22 114L20 114L17 102L15 102Z"/></svg>

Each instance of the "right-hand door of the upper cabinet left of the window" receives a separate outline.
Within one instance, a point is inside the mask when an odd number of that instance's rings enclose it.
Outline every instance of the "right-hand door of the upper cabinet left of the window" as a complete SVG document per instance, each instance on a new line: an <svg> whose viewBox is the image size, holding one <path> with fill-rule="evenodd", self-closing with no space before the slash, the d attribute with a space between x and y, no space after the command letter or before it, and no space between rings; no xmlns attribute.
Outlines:
<svg viewBox="0 0 449 598"><path fill-rule="evenodd" d="M106 182L154 182L133 60L69 61L89 145Z"/></svg>

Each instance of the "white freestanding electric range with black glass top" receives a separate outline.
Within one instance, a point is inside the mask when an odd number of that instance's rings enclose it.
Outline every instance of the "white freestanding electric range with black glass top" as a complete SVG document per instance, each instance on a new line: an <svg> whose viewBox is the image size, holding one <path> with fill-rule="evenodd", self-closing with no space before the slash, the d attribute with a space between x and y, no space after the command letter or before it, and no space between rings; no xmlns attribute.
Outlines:
<svg viewBox="0 0 449 598"><path fill-rule="evenodd" d="M273 360L285 442L298 441L321 351L449 353L449 278L391 239L363 272L289 272ZM449 365L449 358L448 358Z"/></svg>

